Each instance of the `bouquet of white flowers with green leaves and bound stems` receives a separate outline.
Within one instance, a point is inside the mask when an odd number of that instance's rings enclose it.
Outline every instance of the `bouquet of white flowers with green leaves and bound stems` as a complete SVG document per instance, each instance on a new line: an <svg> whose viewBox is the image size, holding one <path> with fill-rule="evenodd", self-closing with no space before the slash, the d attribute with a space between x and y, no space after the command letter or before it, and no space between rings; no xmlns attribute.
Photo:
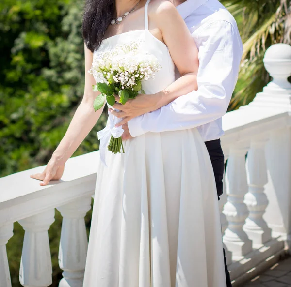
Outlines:
<svg viewBox="0 0 291 287"><path fill-rule="evenodd" d="M114 95L118 95L119 103L124 105L129 99L134 99L138 94L145 93L142 81L153 79L161 66L155 56L140 49L140 44L138 41L133 41L96 54L89 70L89 73L93 74L95 78L100 79L96 85L93 85L93 91L101 92L94 101L95 111L102 108L105 101L113 106L115 104ZM124 131L119 128L119 132L116 133L114 123L117 122L113 120L110 127L104 130L107 129L107 132L111 133L108 150L116 154L120 152L121 147L124 152L121 140ZM101 133L100 137L104 137L104 133Z"/></svg>

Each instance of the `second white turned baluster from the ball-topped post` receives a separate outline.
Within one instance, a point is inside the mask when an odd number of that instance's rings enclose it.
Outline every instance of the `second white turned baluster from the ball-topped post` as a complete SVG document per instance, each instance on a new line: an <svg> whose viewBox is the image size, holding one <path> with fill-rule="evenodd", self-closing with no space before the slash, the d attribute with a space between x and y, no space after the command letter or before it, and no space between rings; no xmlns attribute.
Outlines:
<svg viewBox="0 0 291 287"><path fill-rule="evenodd" d="M226 167L226 191L228 200L224 214L228 220L224 243L233 256L244 256L252 250L252 241L243 231L242 226L248 216L248 210L243 202L247 193L245 172L245 154L247 149L231 147Z"/></svg>

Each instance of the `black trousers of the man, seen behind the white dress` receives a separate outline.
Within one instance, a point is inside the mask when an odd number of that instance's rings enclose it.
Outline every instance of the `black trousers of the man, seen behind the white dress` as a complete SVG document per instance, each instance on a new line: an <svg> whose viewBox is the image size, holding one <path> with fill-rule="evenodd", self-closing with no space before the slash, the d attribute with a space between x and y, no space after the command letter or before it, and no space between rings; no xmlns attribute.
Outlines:
<svg viewBox="0 0 291 287"><path fill-rule="evenodd" d="M212 163L216 189L217 189L217 196L219 200L219 196L221 196L223 193L222 179L223 179L223 173L224 173L224 168L225 168L224 155L221 148L220 139L207 141L205 142L205 145L207 147L210 160ZM232 287L229 272L226 265L226 252L224 249L223 249L223 256L224 256L225 271L226 271L226 286Z"/></svg>

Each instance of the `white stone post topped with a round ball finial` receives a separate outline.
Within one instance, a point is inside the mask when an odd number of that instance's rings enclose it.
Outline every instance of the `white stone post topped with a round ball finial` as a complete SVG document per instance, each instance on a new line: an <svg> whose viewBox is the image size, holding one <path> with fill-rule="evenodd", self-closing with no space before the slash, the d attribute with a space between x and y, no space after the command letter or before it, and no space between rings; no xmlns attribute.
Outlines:
<svg viewBox="0 0 291 287"><path fill-rule="evenodd" d="M286 128L274 130L266 144L268 183L265 194L269 205L264 219L274 235L286 236L291 252L291 46L272 45L265 53L264 64L273 80L256 95L250 107L272 108L289 112Z"/></svg>

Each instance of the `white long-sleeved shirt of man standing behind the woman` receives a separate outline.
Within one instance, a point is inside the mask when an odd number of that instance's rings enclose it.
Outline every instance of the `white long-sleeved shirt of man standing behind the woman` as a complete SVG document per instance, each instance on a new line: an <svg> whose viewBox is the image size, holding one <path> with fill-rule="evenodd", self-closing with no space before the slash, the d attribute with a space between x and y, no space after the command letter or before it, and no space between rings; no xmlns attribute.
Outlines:
<svg viewBox="0 0 291 287"><path fill-rule="evenodd" d="M221 117L237 82L242 40L235 19L218 0L187 0L177 9L199 50L198 90L130 120L129 132L135 137L197 127L204 141L215 140L224 134Z"/></svg>

